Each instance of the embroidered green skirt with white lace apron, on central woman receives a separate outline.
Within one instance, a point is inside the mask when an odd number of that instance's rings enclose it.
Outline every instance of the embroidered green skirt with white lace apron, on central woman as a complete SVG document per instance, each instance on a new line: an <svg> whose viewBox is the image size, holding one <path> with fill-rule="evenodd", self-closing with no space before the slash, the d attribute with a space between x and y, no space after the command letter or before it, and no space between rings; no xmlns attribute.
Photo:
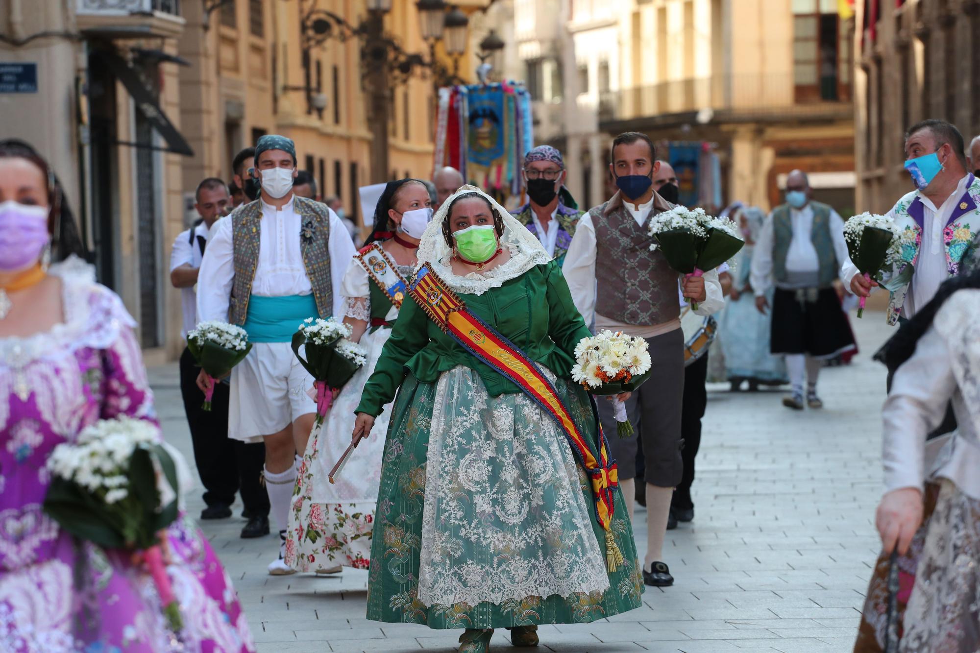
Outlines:
<svg viewBox="0 0 980 653"><path fill-rule="evenodd" d="M579 429L596 438L588 395L545 372ZM409 375L385 443L368 619L504 628L639 607L644 586L623 506L617 490L623 563L610 574L587 477L537 404L491 397L464 366L435 383Z"/></svg>

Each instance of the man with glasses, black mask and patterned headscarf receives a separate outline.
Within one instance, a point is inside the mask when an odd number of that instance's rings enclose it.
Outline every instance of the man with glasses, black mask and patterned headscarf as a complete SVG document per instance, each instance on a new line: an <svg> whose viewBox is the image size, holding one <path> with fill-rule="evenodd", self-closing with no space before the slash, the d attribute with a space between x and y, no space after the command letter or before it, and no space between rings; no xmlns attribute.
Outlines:
<svg viewBox="0 0 980 653"><path fill-rule="evenodd" d="M514 217L562 265L575 226L585 213L578 210L564 187L567 173L562 153L550 145L538 145L524 155L523 175L528 202L514 212Z"/></svg>

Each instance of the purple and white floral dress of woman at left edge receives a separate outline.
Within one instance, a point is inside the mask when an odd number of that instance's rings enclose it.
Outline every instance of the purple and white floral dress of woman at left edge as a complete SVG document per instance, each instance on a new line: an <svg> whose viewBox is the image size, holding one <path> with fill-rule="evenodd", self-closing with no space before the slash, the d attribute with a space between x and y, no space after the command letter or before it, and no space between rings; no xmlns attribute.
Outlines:
<svg viewBox="0 0 980 653"><path fill-rule="evenodd" d="M100 419L155 420L120 298L77 260L50 273L62 279L65 322L0 339L0 650L254 650L230 579L188 519L168 529L168 572L184 621L174 633L130 552L75 539L42 511L45 463L57 444Z"/></svg>

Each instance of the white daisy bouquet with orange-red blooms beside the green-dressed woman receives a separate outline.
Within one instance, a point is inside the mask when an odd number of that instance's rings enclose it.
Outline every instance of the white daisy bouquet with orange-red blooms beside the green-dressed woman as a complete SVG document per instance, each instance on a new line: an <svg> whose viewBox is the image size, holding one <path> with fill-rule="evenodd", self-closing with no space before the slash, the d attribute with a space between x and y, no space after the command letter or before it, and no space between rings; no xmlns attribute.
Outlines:
<svg viewBox="0 0 980 653"><path fill-rule="evenodd" d="M650 366L645 339L607 328L575 345L571 378L594 395L613 396L639 387L650 376ZM615 421L619 437L633 434L621 401L615 402Z"/></svg>

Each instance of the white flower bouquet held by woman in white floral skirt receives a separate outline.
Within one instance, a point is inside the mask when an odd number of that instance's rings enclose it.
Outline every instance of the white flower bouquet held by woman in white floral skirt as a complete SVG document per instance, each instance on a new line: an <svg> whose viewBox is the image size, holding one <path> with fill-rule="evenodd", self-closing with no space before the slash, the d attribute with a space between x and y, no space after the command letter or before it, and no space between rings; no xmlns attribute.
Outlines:
<svg viewBox="0 0 980 653"><path fill-rule="evenodd" d="M368 363L368 351L349 340L352 329L336 318L307 318L293 334L293 353L314 377L317 391L317 424L323 424L333 401L333 388L343 387L361 366ZM300 355L304 348L306 358ZM312 396L312 395L311 395Z"/></svg>

